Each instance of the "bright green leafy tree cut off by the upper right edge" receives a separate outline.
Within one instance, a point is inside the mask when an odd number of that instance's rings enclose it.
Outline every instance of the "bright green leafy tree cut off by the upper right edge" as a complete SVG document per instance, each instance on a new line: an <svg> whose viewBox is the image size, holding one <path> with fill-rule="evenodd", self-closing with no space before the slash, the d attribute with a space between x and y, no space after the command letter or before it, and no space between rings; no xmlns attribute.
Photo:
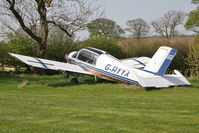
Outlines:
<svg viewBox="0 0 199 133"><path fill-rule="evenodd" d="M192 0L192 4L198 5L199 0ZM199 6L188 14L188 19L184 25L185 29L199 33Z"/></svg>

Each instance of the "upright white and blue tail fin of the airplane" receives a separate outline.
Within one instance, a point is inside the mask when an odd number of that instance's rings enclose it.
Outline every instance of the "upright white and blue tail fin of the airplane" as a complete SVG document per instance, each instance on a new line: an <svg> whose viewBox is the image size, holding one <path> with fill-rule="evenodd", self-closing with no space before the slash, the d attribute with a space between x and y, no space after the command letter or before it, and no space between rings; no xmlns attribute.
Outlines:
<svg viewBox="0 0 199 133"><path fill-rule="evenodd" d="M163 76L176 53L176 49L166 46L160 47L149 63L147 63L144 70Z"/></svg>

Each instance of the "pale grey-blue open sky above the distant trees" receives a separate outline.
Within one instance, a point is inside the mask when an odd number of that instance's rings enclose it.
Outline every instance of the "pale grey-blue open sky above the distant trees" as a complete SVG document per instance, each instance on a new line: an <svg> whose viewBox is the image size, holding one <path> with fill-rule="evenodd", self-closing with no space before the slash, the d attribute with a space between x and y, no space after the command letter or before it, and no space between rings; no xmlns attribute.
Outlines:
<svg viewBox="0 0 199 133"><path fill-rule="evenodd" d="M191 0L98 0L97 3L104 9L104 16L115 21L122 28L126 28L127 20L142 18L150 24L171 10L189 13L196 9L196 6L191 4ZM180 31L191 34L183 27ZM88 36L86 33L79 35L83 39Z"/></svg>

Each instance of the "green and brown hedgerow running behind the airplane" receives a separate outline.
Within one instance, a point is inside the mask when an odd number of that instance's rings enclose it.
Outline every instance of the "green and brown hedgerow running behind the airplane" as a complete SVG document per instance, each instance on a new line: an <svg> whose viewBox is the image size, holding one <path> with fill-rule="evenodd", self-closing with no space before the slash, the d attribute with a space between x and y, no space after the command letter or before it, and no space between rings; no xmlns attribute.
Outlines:
<svg viewBox="0 0 199 133"><path fill-rule="evenodd" d="M57 32L56 32L57 33ZM197 37L199 38L199 37ZM106 36L100 36L96 38L89 38L85 41L77 43L73 38L52 34L48 40L46 48L46 58L57 61L64 61L64 56L74 50L78 50L84 47L95 47L109 52L111 55L122 59L129 57L147 56L152 57L160 46L169 46L178 50L177 55L172 61L169 69L177 69L182 73L193 71L194 65L190 64L193 57L196 56L194 50L195 45L198 45L199 39L194 38L144 38L144 39L114 39ZM24 63L16 61L11 58L7 53L13 52L22 55L36 56L36 45L34 41L28 36L16 36L9 35L9 41L7 43L0 44L0 62L2 64L14 65L17 69L18 66L24 66ZM199 56L198 56L199 57ZM198 62L196 59L195 62ZM27 66L26 66L27 67ZM28 67L27 67L28 68Z"/></svg>

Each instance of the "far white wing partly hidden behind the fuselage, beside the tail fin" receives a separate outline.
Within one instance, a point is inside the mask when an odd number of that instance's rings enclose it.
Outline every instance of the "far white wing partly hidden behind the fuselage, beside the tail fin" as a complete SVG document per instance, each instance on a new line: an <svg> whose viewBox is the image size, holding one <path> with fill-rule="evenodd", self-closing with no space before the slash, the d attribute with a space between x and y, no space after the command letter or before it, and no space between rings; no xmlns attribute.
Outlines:
<svg viewBox="0 0 199 133"><path fill-rule="evenodd" d="M144 68L151 58L134 57L120 60L122 63L133 68Z"/></svg>

